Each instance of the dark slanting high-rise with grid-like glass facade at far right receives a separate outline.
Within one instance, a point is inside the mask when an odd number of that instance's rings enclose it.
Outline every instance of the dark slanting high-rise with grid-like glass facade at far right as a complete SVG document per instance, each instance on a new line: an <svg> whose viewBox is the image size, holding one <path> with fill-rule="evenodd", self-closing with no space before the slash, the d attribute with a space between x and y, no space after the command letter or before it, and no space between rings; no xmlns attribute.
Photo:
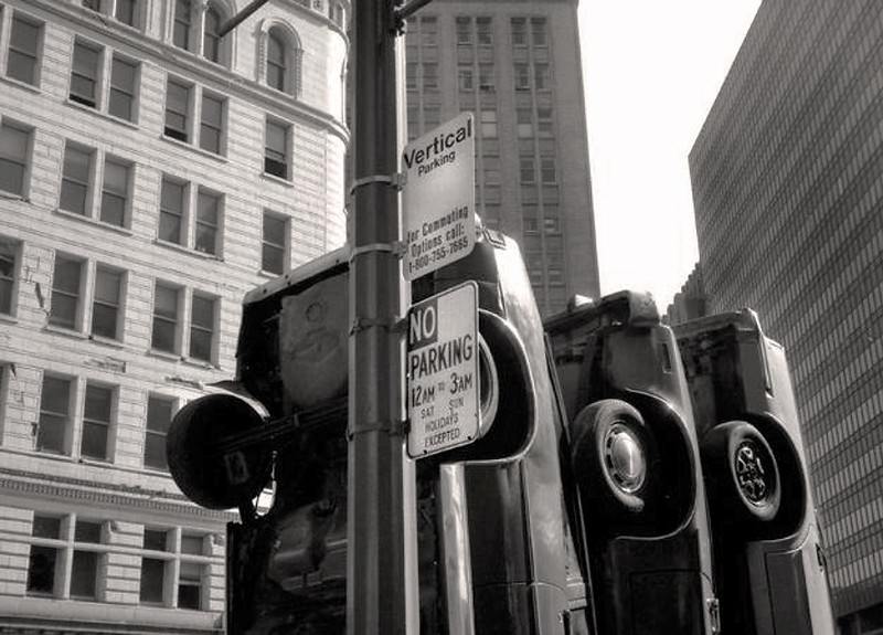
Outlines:
<svg viewBox="0 0 883 635"><path fill-rule="evenodd" d="M839 624L883 628L883 4L765 0L690 154L712 313L788 352Z"/></svg>

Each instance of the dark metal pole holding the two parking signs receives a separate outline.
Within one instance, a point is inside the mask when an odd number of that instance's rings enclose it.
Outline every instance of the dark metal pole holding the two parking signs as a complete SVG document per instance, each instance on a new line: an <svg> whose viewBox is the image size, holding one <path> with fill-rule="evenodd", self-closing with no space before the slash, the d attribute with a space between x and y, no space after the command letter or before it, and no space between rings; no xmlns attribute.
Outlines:
<svg viewBox="0 0 883 635"><path fill-rule="evenodd" d="M401 425L403 281L392 0L357 0L354 219L350 223L347 632L416 633L414 467Z"/></svg>

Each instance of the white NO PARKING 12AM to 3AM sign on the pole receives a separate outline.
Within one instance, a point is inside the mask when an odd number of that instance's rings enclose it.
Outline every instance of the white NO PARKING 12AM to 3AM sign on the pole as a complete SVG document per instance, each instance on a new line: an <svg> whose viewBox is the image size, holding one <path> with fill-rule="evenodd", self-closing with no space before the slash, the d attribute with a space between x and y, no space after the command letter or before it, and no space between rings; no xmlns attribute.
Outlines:
<svg viewBox="0 0 883 635"><path fill-rule="evenodd" d="M466 445L479 432L478 286L414 305L408 314L407 453L416 458Z"/></svg>

